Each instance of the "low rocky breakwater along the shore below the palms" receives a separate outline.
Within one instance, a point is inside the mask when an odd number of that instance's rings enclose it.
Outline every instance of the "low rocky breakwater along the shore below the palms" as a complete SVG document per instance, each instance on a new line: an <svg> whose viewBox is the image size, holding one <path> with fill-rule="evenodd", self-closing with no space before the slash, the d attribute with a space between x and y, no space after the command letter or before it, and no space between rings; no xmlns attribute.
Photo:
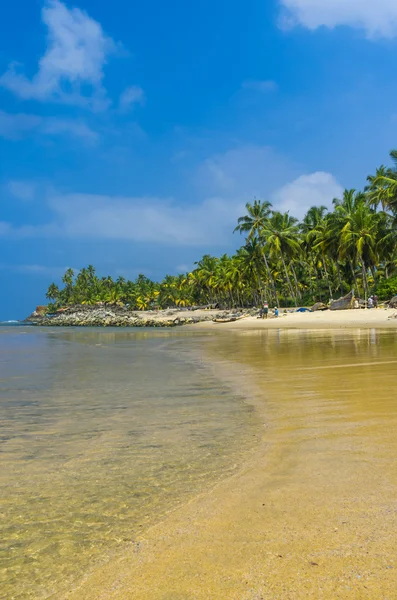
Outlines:
<svg viewBox="0 0 397 600"><path fill-rule="evenodd" d="M27 322L43 327L176 327L212 321L236 311L131 311L124 306L78 305L60 309L49 315L34 311Z"/></svg>

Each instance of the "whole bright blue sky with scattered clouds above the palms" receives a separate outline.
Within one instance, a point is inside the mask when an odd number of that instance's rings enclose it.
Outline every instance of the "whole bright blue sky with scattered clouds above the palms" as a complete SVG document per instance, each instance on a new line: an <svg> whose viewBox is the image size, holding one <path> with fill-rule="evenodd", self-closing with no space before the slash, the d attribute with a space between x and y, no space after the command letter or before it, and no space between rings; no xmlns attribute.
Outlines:
<svg viewBox="0 0 397 600"><path fill-rule="evenodd" d="M0 21L0 319L67 267L153 278L397 146L395 0L21 0Z"/></svg>

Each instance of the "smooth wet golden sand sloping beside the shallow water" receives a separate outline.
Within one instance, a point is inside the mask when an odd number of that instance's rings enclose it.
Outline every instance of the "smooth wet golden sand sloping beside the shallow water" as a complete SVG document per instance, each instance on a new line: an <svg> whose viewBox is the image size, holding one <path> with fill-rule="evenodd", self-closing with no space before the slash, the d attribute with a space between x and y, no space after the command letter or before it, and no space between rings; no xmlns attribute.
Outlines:
<svg viewBox="0 0 397 600"><path fill-rule="evenodd" d="M207 350L261 442L63 598L396 598L394 332L245 330Z"/></svg>

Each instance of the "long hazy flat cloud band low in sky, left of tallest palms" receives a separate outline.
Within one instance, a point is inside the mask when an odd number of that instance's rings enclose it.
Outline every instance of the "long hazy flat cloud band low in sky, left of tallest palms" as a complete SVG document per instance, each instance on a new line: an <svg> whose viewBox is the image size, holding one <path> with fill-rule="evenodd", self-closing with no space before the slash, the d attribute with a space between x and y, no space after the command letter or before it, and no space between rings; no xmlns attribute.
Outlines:
<svg viewBox="0 0 397 600"><path fill-rule="evenodd" d="M52 217L46 225L12 227L3 223L0 235L221 245L230 239L244 203L213 197L183 206L165 198L58 194L50 196L47 208Z"/></svg>

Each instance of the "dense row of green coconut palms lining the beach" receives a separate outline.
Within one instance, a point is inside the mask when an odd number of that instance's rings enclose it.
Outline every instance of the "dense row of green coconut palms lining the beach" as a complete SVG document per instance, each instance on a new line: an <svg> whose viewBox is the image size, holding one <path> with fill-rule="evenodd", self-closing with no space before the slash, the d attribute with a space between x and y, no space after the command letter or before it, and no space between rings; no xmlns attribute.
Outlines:
<svg viewBox="0 0 397 600"><path fill-rule="evenodd" d="M252 306L328 301L353 289L356 296L397 293L397 151L392 167L367 178L364 191L345 190L333 210L313 206L301 222L254 200L238 219L244 244L232 256L204 255L189 273L153 282L99 278L93 266L76 276L68 269L63 287L51 284L53 308L70 304L123 303L147 310L218 304Z"/></svg>

